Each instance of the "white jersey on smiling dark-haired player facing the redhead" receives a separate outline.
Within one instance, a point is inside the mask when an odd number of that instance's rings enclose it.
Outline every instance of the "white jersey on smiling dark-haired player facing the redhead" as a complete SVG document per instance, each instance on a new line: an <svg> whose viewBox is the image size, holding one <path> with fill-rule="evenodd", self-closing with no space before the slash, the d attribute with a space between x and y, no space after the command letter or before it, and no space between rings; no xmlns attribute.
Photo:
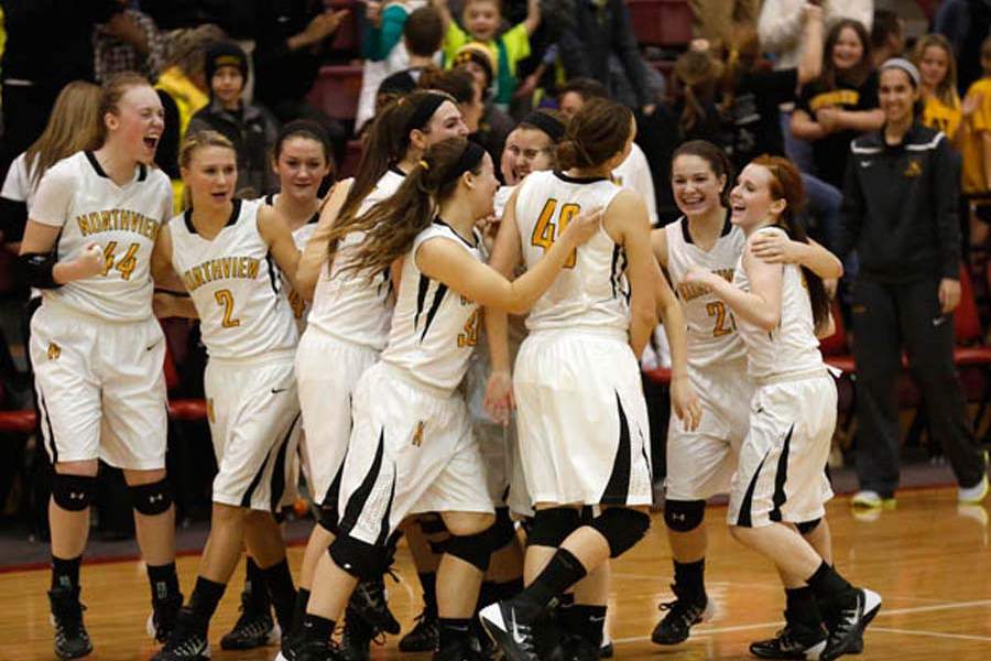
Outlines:
<svg viewBox="0 0 991 661"><path fill-rule="evenodd" d="M729 306L707 288L685 282L685 275L693 264L698 264L732 282L747 245L743 230L727 218L722 234L708 251L693 242L688 219L684 216L665 226L664 231L667 235L667 273L688 324L688 364L708 367L742 358L747 349Z"/></svg>

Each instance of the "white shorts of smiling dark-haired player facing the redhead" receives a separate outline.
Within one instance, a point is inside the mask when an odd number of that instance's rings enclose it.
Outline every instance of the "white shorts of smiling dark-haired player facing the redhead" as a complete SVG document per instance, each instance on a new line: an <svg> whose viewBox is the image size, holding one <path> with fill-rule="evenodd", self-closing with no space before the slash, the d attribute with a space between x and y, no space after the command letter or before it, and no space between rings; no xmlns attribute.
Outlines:
<svg viewBox="0 0 991 661"><path fill-rule="evenodd" d="M707 500L729 492L750 426L753 386L747 379L745 358L703 369L689 367L688 377L703 416L695 431L671 416L665 480L668 500Z"/></svg>

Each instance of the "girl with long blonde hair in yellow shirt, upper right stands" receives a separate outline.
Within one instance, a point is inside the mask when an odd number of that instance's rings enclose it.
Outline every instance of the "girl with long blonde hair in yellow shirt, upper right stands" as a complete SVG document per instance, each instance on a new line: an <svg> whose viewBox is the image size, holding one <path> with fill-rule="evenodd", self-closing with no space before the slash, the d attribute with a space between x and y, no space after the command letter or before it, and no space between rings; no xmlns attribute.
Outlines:
<svg viewBox="0 0 991 661"><path fill-rule="evenodd" d="M966 131L959 131L963 108L957 94L954 47L941 34L927 34L915 44L913 61L921 76L918 89L923 101L923 126L943 131L959 145ZM971 97L968 115L974 110L973 101Z"/></svg>

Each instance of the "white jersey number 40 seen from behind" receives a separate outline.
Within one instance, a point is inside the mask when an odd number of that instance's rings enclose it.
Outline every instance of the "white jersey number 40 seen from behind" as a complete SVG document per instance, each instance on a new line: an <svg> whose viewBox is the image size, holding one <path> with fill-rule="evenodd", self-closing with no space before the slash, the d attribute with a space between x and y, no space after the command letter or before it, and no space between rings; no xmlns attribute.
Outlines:
<svg viewBox="0 0 991 661"><path fill-rule="evenodd" d="M607 178L575 178L560 172L532 172L519 185L516 227L523 262L532 269L567 224L582 210L606 209L621 188ZM600 228L580 246L554 284L537 300L526 327L596 327L625 332L630 326L627 254Z"/></svg>

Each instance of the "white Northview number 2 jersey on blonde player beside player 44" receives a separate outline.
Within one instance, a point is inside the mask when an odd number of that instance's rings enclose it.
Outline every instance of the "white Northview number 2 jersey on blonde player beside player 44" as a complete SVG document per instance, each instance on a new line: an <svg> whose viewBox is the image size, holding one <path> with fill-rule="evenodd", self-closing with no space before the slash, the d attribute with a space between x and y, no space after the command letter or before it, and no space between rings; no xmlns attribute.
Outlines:
<svg viewBox="0 0 991 661"><path fill-rule="evenodd" d="M261 205L235 199L230 220L213 240L193 227L192 210L168 223L172 267L196 305L210 358L254 358L296 346L293 312L258 231Z"/></svg>

